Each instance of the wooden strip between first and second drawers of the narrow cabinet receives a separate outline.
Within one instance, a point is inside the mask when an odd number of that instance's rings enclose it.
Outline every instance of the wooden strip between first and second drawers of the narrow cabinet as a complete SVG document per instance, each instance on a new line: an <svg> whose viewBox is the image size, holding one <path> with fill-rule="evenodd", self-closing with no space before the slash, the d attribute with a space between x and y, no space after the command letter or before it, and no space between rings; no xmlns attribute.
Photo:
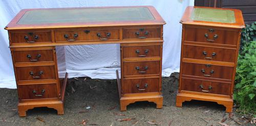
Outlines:
<svg viewBox="0 0 256 126"><path fill-rule="evenodd" d="M237 45L227 45L227 44L216 44L216 43L204 43L204 42L194 42L194 41L184 41L186 45L198 45L198 46L208 46L208 47L220 47L220 48L230 48L237 49Z"/></svg>

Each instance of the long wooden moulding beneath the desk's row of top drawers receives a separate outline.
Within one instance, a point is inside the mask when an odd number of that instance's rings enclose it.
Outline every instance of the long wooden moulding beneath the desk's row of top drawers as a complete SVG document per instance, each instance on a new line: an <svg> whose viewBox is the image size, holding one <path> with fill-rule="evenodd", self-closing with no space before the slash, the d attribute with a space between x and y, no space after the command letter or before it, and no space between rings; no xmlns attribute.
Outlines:
<svg viewBox="0 0 256 126"><path fill-rule="evenodd" d="M163 42L163 40L140 40L139 43L155 43ZM63 42L63 43L33 43L33 44L13 44L10 48L20 47L46 47L46 46L69 46L69 45L93 45L93 44L122 44L122 43L138 43L138 41L88 41L88 42Z"/></svg>

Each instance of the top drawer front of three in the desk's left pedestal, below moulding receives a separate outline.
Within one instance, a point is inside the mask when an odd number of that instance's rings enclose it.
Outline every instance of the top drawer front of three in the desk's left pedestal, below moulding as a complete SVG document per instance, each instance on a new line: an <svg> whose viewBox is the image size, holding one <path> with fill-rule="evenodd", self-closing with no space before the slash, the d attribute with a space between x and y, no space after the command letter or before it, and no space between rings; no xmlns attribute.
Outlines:
<svg viewBox="0 0 256 126"><path fill-rule="evenodd" d="M13 50L13 60L17 62L53 61L53 49L48 50Z"/></svg>

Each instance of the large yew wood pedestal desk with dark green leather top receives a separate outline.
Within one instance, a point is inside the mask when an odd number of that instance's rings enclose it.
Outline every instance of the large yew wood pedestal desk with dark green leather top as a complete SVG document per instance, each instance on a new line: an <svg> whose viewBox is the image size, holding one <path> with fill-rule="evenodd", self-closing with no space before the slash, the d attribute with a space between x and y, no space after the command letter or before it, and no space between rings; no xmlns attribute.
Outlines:
<svg viewBox="0 0 256 126"><path fill-rule="evenodd" d="M154 7L25 9L8 30L18 113L48 107L63 114L67 77L58 76L55 46L120 43L120 110L137 101L162 108L164 20ZM118 75L118 74L117 74Z"/></svg>

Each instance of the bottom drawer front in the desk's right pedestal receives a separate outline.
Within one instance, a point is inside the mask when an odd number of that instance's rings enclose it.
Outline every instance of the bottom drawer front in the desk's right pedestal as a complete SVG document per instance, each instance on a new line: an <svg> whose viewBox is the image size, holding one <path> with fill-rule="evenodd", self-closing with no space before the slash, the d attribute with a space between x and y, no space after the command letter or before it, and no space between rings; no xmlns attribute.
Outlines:
<svg viewBox="0 0 256 126"><path fill-rule="evenodd" d="M145 93L158 91L159 78L123 80L123 93Z"/></svg>

